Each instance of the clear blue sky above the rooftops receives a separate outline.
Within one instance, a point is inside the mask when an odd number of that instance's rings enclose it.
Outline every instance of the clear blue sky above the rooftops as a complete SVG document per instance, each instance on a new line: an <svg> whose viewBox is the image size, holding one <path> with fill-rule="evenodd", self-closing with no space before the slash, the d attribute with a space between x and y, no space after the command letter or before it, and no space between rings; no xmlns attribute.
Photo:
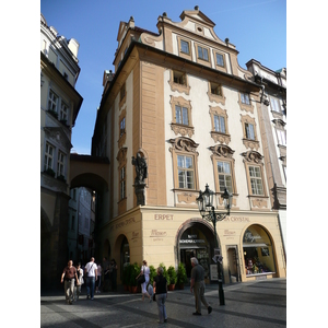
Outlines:
<svg viewBox="0 0 328 328"><path fill-rule="evenodd" d="M81 73L75 85L83 103L72 130L72 151L91 154L91 141L103 93L104 70L114 71L120 21L134 17L136 26L157 33L157 17L167 13L180 22L184 10L199 10L215 23L215 34L239 51L238 63L256 59L278 70L286 67L286 0L40 0L40 12L59 35L80 44Z"/></svg>

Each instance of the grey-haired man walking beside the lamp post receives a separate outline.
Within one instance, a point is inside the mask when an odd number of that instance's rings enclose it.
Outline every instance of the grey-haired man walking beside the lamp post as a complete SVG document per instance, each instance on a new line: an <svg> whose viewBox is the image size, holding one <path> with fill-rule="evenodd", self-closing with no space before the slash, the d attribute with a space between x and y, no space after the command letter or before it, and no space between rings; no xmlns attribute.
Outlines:
<svg viewBox="0 0 328 328"><path fill-rule="evenodd" d="M190 282L190 292L195 295L195 306L196 312L192 315L201 316L201 303L208 308L208 314L212 312L212 307L209 305L204 297L204 269L201 265L198 263L196 257L191 257L191 282Z"/></svg>

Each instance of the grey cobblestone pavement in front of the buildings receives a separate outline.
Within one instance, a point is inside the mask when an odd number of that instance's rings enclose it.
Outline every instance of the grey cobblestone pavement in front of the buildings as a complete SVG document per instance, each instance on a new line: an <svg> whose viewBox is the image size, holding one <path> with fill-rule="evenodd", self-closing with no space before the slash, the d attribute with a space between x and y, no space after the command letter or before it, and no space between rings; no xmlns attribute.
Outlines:
<svg viewBox="0 0 328 328"><path fill-rule="evenodd" d="M286 279L258 280L224 285L225 305L220 306L218 285L206 288L206 298L213 308L194 316L195 298L190 289L168 292L167 323L157 324L155 302L142 302L141 294L108 292L86 300L82 296L73 305L65 302L63 291L40 296L40 327L286 327Z"/></svg>

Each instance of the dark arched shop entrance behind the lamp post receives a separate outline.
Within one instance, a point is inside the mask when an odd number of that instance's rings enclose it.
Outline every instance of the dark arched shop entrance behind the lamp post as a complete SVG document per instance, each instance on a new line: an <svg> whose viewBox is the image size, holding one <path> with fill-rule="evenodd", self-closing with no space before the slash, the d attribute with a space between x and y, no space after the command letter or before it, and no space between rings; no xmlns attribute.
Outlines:
<svg viewBox="0 0 328 328"><path fill-rule="evenodd" d="M187 221L177 235L178 261L186 267L187 277L190 278L190 258L196 257L204 268L204 279L210 280L211 258L214 255L214 235L212 227L207 223L196 220Z"/></svg>

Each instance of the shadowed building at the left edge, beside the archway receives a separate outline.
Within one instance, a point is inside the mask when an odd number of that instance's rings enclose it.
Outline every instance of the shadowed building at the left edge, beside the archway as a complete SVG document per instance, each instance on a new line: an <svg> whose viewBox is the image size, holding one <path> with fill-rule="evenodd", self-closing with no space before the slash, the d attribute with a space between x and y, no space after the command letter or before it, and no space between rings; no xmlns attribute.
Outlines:
<svg viewBox="0 0 328 328"><path fill-rule="evenodd" d="M79 43L40 14L40 284L58 285L68 261L71 131L82 96Z"/></svg>

